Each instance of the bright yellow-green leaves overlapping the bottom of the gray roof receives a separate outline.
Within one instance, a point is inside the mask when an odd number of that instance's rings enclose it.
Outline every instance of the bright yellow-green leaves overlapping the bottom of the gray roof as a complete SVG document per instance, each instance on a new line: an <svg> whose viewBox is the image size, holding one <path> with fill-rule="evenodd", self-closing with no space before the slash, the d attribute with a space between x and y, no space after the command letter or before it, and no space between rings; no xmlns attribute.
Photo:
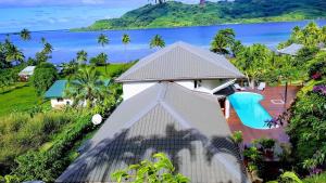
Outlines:
<svg viewBox="0 0 326 183"><path fill-rule="evenodd" d="M125 170L118 170L111 177L116 182L155 182L155 183L187 183L190 182L185 175L177 173L173 164L163 153L153 155L156 161L143 160L138 165L131 165ZM134 174L137 172L136 174Z"/></svg>

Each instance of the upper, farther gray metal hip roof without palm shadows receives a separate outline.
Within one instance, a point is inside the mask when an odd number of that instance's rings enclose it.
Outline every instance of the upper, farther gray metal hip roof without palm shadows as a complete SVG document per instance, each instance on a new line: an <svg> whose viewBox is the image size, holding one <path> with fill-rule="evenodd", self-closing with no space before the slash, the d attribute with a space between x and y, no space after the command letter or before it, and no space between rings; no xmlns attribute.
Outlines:
<svg viewBox="0 0 326 183"><path fill-rule="evenodd" d="M176 42L142 60L116 79L160 81L244 77L227 58L185 42Z"/></svg>

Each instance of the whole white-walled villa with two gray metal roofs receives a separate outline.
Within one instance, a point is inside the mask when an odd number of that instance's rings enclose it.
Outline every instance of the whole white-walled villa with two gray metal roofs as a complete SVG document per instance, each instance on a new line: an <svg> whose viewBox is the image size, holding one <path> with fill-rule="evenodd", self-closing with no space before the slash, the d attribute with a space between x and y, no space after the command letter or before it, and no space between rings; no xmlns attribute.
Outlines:
<svg viewBox="0 0 326 183"><path fill-rule="evenodd" d="M250 182L222 113L243 75L224 56L177 42L116 81L124 102L55 182L114 182L116 170L163 152L191 182Z"/></svg>

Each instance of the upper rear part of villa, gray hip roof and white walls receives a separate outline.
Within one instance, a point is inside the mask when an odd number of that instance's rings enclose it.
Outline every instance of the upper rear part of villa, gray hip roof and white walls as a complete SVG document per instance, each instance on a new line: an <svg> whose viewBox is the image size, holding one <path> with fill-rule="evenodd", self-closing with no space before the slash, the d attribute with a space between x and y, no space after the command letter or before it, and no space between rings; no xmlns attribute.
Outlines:
<svg viewBox="0 0 326 183"><path fill-rule="evenodd" d="M128 100L161 81L173 81L187 89L218 94L244 76L224 55L185 42L176 42L142 60L120 76L123 99ZM221 97L226 118L229 102Z"/></svg>

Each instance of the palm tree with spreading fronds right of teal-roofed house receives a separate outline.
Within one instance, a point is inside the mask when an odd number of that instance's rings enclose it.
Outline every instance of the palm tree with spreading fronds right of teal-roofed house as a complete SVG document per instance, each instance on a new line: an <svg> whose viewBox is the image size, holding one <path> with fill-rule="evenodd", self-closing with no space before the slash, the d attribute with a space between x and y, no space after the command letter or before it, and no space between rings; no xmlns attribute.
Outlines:
<svg viewBox="0 0 326 183"><path fill-rule="evenodd" d="M75 77L68 81L65 95L72 97L74 106L85 104L92 107L101 96L104 82L100 80L100 73L95 67L82 67Z"/></svg>

